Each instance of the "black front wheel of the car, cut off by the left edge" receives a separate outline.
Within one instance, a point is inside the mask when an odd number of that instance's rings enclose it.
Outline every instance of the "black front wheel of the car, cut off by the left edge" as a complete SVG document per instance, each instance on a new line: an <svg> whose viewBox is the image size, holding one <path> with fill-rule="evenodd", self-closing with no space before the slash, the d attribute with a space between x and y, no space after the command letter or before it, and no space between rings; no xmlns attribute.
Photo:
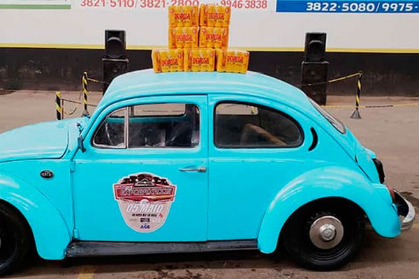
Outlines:
<svg viewBox="0 0 419 279"><path fill-rule="evenodd" d="M27 255L30 247L27 224L13 209L0 206L0 276L13 271Z"/></svg>

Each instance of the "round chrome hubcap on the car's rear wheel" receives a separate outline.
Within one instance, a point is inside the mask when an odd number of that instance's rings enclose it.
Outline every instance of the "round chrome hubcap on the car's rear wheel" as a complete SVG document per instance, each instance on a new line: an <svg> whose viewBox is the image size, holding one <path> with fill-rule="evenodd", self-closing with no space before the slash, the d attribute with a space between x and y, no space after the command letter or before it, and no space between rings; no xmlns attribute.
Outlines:
<svg viewBox="0 0 419 279"><path fill-rule="evenodd" d="M330 249L337 246L344 237L344 226L334 216L323 216L314 221L309 234L314 246Z"/></svg>

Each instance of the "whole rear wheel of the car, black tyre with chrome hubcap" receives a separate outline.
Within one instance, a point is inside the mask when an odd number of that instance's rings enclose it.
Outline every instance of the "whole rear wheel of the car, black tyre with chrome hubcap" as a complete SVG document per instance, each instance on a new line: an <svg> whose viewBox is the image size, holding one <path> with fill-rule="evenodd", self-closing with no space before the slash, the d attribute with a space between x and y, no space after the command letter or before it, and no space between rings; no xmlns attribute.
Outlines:
<svg viewBox="0 0 419 279"><path fill-rule="evenodd" d="M365 238L365 217L350 202L316 202L293 213L281 234L289 255L307 269L328 271L347 264Z"/></svg>

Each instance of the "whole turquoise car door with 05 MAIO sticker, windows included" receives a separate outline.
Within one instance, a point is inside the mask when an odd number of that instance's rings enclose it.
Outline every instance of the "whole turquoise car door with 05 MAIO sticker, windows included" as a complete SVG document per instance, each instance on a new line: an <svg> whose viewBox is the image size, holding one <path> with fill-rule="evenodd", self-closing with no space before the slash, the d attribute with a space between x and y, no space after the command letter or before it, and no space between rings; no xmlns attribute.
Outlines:
<svg viewBox="0 0 419 279"><path fill-rule="evenodd" d="M117 103L75 156L75 229L82 241L205 241L207 97Z"/></svg>

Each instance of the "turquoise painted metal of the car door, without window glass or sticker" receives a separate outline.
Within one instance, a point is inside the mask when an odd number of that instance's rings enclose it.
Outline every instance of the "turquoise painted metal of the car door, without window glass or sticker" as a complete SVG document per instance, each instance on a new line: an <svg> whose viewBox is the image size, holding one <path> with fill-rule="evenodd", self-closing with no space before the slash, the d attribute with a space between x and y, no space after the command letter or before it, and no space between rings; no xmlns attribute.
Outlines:
<svg viewBox="0 0 419 279"><path fill-rule="evenodd" d="M101 149L91 146L86 137L86 151L75 160L75 225L82 241L206 241L207 172L182 172L187 167L207 168L207 96L144 97L140 104L189 103L200 110L200 144L193 148ZM100 119L119 106L137 105L128 100L110 106ZM148 119L148 118L147 118ZM133 174L154 174L168 179L176 187L168 218L153 232L140 233L128 227L122 209L115 200L112 186ZM106 174L106 175L103 175ZM90 178L90 179L89 179ZM89 218L86 218L89 216ZM112 220L112 226L103 225Z"/></svg>

